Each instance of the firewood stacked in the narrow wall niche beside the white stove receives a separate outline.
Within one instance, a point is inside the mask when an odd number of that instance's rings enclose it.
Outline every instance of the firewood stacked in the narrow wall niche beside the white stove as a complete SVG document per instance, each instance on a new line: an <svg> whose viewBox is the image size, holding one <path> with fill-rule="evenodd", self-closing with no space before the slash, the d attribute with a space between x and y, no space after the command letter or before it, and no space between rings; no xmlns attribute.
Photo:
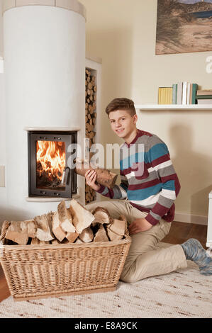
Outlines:
<svg viewBox="0 0 212 333"><path fill-rule="evenodd" d="M89 138L89 147L95 143L96 124L96 77L89 69L85 71L85 134ZM92 154L89 153L91 159ZM85 203L96 200L96 192L85 185Z"/></svg>

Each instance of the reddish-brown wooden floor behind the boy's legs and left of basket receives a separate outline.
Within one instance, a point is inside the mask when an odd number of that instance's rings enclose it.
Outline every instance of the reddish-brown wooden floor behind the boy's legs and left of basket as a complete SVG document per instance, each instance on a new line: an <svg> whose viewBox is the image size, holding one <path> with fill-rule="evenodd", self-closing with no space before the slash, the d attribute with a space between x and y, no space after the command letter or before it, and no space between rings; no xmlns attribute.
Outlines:
<svg viewBox="0 0 212 333"><path fill-rule="evenodd" d="M196 238L206 249L207 226L194 225L192 223L173 222L169 231L169 235L162 239L162 242L169 244L182 244L189 238ZM10 295L9 288L6 283L4 272L0 266L0 302L8 298Z"/></svg>

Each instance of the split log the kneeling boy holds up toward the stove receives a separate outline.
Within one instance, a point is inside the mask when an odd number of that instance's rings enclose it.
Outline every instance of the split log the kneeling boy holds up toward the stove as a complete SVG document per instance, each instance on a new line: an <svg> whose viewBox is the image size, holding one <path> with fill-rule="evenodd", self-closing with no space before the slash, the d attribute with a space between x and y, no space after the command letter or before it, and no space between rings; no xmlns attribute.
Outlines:
<svg viewBox="0 0 212 333"><path fill-rule="evenodd" d="M112 171L110 171L108 169L103 169L103 168L100 169L99 167L97 167L96 169L93 169L91 167L91 165L89 164L89 162L87 162L86 160L76 159L76 168L74 169L74 171L77 174L84 176L85 173L89 169L96 171L96 182L97 183L107 186L108 188L113 188L113 186L116 183L118 174L114 174Z"/></svg>

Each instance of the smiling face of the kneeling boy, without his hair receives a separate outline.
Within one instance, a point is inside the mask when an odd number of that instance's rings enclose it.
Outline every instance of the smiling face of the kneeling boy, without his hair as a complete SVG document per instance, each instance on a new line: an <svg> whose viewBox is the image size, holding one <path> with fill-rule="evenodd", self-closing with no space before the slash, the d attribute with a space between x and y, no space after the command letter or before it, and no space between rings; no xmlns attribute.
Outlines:
<svg viewBox="0 0 212 333"><path fill-rule="evenodd" d="M109 113L111 128L118 137L127 138L136 129L137 115L130 115L128 111L117 110Z"/></svg>

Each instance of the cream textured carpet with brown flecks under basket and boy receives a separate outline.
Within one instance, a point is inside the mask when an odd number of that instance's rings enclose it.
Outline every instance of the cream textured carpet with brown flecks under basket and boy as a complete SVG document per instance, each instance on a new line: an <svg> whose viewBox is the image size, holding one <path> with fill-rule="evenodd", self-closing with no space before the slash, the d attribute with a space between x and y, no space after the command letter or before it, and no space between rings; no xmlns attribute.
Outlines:
<svg viewBox="0 0 212 333"><path fill-rule="evenodd" d="M167 247L167 245L161 245ZM0 303L1 318L211 318L212 277L188 268L119 282L113 292Z"/></svg>

